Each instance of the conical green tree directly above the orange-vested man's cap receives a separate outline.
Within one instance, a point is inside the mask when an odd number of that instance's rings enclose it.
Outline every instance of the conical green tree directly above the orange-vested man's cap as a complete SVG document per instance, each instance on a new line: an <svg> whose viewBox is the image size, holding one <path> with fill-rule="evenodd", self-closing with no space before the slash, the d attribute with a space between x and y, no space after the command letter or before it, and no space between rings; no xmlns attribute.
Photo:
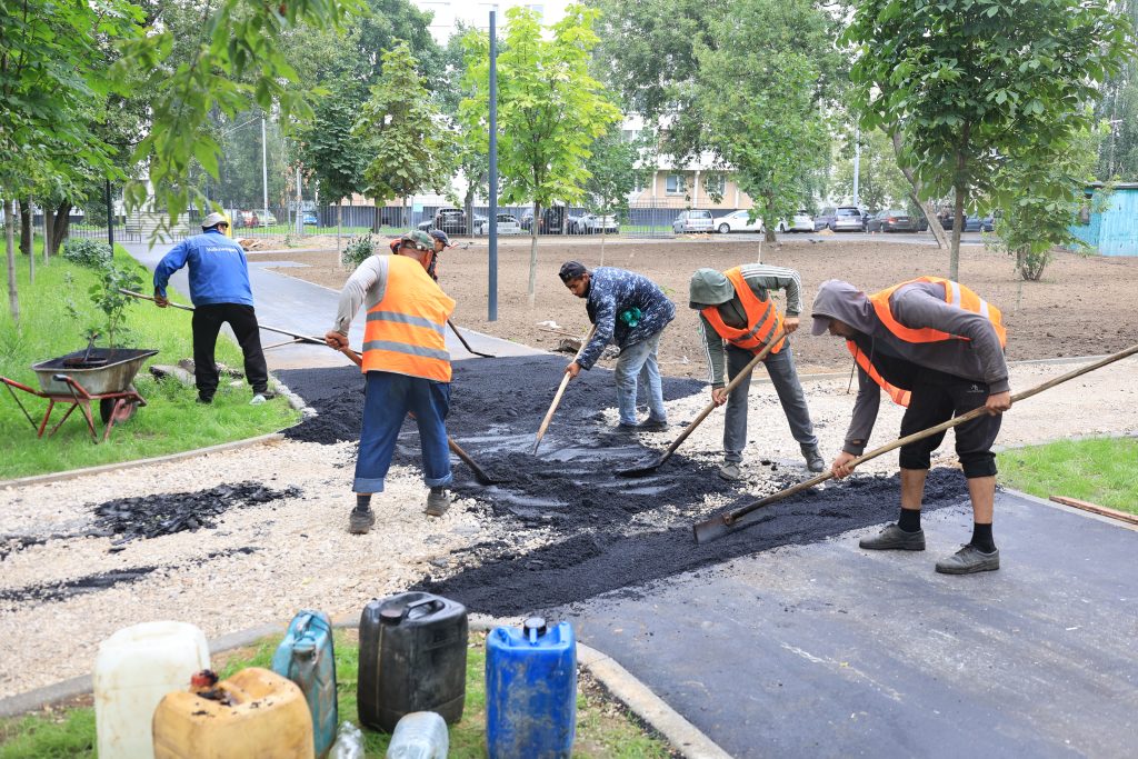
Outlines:
<svg viewBox="0 0 1138 759"><path fill-rule="evenodd" d="M423 77L405 42L382 56L382 73L371 89L354 133L364 139L370 160L363 171L365 192L376 198L376 229L379 206L428 188L439 189L450 175L447 156L453 140L431 104Z"/></svg>

